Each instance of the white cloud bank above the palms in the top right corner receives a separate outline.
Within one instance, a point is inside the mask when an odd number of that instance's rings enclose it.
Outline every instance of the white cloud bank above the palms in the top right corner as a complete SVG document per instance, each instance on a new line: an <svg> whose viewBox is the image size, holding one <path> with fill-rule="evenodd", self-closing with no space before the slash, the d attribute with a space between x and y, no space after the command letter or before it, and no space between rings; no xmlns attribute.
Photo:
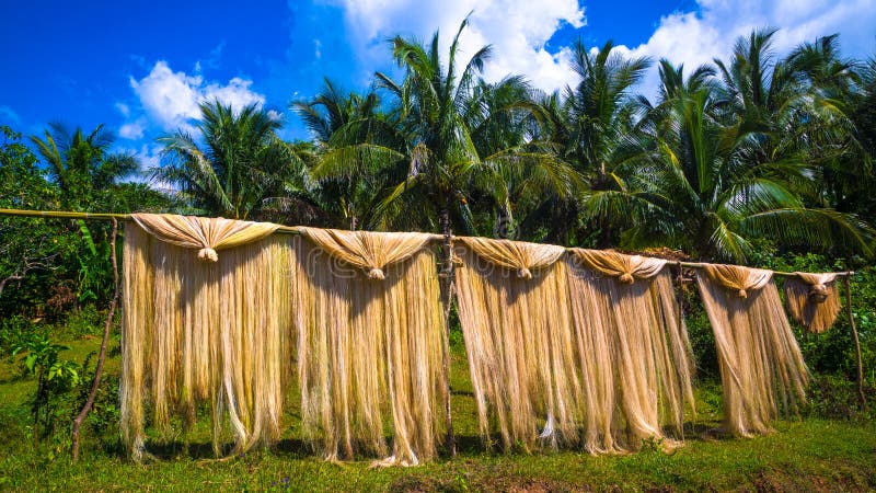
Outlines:
<svg viewBox="0 0 876 493"><path fill-rule="evenodd" d="M699 13L661 18L647 43L620 48L655 61L684 64L687 73L713 58L726 60L737 37L768 26L779 28L773 36L776 55L833 33L840 33L845 55L863 57L876 48L876 0L699 0ZM657 87L657 71L652 70L643 92L654 95Z"/></svg>

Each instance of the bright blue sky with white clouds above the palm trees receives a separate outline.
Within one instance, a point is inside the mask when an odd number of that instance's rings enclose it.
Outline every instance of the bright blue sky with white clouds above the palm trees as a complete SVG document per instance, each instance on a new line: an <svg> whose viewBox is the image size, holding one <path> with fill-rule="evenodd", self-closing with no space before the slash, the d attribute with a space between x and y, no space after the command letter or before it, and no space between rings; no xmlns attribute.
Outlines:
<svg viewBox="0 0 876 493"><path fill-rule="evenodd" d="M50 122L103 124L143 169L159 164L157 137L194 129L205 100L257 104L284 122L284 138L308 138L291 102L324 78L361 91L374 71L397 77L390 37L426 41L437 30L446 53L466 15L460 49L493 46L487 80L519 73L545 91L574 81L579 39L691 69L763 26L779 28L777 55L833 33L846 56L876 55L876 0L0 2L0 125L42 135ZM656 87L652 68L638 89Z"/></svg>

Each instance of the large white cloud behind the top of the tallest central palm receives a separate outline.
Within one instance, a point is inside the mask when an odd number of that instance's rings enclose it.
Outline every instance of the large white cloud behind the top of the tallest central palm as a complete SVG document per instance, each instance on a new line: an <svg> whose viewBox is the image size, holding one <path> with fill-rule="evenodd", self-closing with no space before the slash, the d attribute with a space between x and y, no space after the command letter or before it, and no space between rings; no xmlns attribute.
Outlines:
<svg viewBox="0 0 876 493"><path fill-rule="evenodd" d="M568 49L545 46L551 36L568 23L585 25L584 9L576 0L336 0L345 10L350 43L359 49L366 65L385 59L384 41L394 34L430 38L441 34L442 54L459 23L469 12L470 25L460 38L459 62L464 62L482 46L493 45L494 57L485 78L498 80L508 73L525 74L534 85L554 90L568 83ZM446 55L445 55L446 56ZM445 60L447 61L447 60Z"/></svg>

